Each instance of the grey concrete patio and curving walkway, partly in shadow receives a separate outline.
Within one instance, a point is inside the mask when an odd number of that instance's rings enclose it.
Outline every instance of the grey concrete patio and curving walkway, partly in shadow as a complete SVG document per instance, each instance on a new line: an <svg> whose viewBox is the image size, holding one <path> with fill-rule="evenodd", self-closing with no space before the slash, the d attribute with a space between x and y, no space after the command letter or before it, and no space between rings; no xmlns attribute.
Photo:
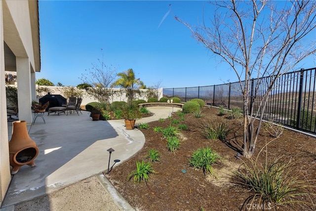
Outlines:
<svg viewBox="0 0 316 211"><path fill-rule="evenodd" d="M150 107L148 110L155 115L137 120L136 124L165 119L178 108ZM143 133L137 129L126 130L123 120L91 121L88 112L82 112L80 116L45 114L44 118L46 124L38 118L29 132L40 150L35 159L37 167L22 166L13 176L1 211L14 210L14 205L54 193L94 175L107 193L111 193L109 195L119 210L132 209L113 190L102 172L108 168L107 149L115 150L110 167L118 159L120 162L115 164L116 167L143 147ZM9 139L11 131L12 124L8 123Z"/></svg>

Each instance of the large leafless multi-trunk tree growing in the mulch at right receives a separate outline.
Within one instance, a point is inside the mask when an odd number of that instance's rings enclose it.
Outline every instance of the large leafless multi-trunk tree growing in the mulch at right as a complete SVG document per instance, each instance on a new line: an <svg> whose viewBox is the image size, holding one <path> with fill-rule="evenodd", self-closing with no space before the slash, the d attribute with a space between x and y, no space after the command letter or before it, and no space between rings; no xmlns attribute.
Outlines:
<svg viewBox="0 0 316 211"><path fill-rule="evenodd" d="M197 42L235 71L243 96L241 150L243 156L251 157L277 79L316 53L315 38L314 41L308 39L316 28L316 1L230 0L210 3L214 17L209 22L203 19L201 24L193 26L175 18L191 30ZM270 80L264 84L265 92L258 97L263 83L260 78L265 76ZM249 90L252 78L257 79L254 95ZM250 100L256 103L250 105ZM257 126L254 125L256 118L259 118Z"/></svg>

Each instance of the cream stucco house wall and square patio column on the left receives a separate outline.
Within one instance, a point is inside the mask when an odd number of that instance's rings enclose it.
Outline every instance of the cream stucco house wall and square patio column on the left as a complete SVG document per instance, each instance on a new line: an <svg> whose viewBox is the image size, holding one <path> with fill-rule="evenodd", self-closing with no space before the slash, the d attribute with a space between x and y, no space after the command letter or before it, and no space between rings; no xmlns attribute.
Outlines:
<svg viewBox="0 0 316 211"><path fill-rule="evenodd" d="M6 67L8 71L16 71L19 117L30 124L31 101L35 98L35 72L40 72L39 39L38 1L0 0L0 205L11 179L4 71ZM13 57L16 64L5 64L4 42L12 51L6 56ZM23 102L30 102L30 105L24 106Z"/></svg>

